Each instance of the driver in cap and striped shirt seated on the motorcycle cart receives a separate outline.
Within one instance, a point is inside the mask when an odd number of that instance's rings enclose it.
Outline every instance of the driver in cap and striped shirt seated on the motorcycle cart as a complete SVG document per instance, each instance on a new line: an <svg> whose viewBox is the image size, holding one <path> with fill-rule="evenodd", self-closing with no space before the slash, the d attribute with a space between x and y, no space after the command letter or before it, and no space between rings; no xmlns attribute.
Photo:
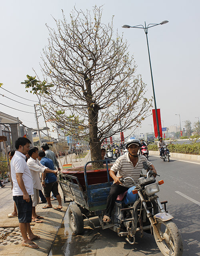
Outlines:
<svg viewBox="0 0 200 256"><path fill-rule="evenodd" d="M143 162L146 162L156 175L154 165L152 165L144 155L138 155L138 150L140 149L140 142L138 140L129 140L126 143L126 148L128 149L128 153L118 157L110 168L110 177L112 177L114 182L110 188L110 194L108 195L106 212L103 217L104 222L110 221L112 209L114 208L115 200L118 195L124 193L133 186L130 179L127 179L125 183L122 183L120 181L121 177L131 177L134 180L138 180L143 169Z"/></svg>

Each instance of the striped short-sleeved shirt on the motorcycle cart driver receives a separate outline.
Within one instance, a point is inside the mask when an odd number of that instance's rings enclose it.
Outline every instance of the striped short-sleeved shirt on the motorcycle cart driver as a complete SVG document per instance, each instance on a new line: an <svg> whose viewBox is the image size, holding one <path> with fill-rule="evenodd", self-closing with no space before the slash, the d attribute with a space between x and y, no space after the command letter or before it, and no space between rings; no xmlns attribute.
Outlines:
<svg viewBox="0 0 200 256"><path fill-rule="evenodd" d="M129 154L127 153L116 159L115 163L110 168L110 171L114 171L114 173L117 173L117 177L131 177L136 181L140 177L142 168L144 168L142 162L146 162L148 166L152 165L152 163L148 161L148 159L144 155L138 155L138 162L134 167L132 161L130 161ZM132 187L134 184L131 179L127 179L126 182L120 185L125 187Z"/></svg>

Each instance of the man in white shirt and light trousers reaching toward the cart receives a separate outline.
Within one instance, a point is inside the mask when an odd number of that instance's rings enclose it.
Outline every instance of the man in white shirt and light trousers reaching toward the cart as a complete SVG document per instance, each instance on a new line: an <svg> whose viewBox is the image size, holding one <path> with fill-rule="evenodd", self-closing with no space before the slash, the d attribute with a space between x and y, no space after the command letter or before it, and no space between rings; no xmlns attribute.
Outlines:
<svg viewBox="0 0 200 256"><path fill-rule="evenodd" d="M27 161L27 165L30 169L30 173L32 175L33 179L33 191L34 195L32 197L33 200L33 206L32 206L32 221L36 223L42 223L43 217L38 216L36 214L36 206L39 204L39 190L42 190L41 180L40 180L40 173L54 173L57 174L58 171L54 171L49 169L48 167L42 165L38 158L38 148L32 147L28 151L28 155L30 155L30 158Z"/></svg>

